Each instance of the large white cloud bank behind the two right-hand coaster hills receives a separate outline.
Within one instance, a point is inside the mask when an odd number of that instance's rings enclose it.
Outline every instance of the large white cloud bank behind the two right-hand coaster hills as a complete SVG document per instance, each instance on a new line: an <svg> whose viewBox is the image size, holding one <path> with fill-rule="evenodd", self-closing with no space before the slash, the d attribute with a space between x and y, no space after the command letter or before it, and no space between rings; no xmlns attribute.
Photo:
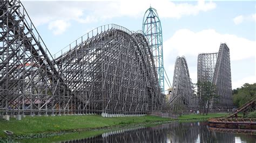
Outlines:
<svg viewBox="0 0 256 143"><path fill-rule="evenodd" d="M196 83L198 54L218 52L221 42L226 42L228 47L230 48L231 62L233 63L246 64L246 63L240 63L237 61L248 59L248 58L255 58L256 56L255 55L256 41L251 41L245 38L237 37L237 35L233 35L233 34L218 33L213 29L203 30L199 32L193 32L191 30L181 29L176 31L173 34L173 36L168 40L164 41L164 44L163 44L164 64L165 64L165 67L167 67L165 70L170 80L172 81L173 69L174 69L173 63L175 63L176 56L184 55L188 63L190 78L192 79L193 83ZM235 65L235 66L239 67L239 65ZM248 66L249 66L248 70L253 70L255 68L255 65L254 67L253 65L248 65ZM239 71L236 71L235 73L239 74ZM240 75L235 75L235 76L240 76ZM242 78L243 76L244 75L242 75L240 78ZM242 85L246 82L252 82L252 81L254 82L256 81L255 77L254 78L248 77L242 81L235 81L234 83L232 82L232 87L237 88L239 87L239 85Z"/></svg>

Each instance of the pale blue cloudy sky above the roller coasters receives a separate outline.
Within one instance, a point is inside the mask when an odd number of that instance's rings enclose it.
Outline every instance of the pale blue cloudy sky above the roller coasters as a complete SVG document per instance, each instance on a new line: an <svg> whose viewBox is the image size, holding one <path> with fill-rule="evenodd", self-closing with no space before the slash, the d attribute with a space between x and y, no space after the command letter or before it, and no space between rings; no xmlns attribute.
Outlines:
<svg viewBox="0 0 256 143"><path fill-rule="evenodd" d="M198 54L218 52L224 42L230 48L232 89L256 82L256 2L23 0L22 3L52 55L101 25L142 30L144 13L151 6L161 20L164 68L171 83L177 56L185 56L192 82L197 83Z"/></svg>

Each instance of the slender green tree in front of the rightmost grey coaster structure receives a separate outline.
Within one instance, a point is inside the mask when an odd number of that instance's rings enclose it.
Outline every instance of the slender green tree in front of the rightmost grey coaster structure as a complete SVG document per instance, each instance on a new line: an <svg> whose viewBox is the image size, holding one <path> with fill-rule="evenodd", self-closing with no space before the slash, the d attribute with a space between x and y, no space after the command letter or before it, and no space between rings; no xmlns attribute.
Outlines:
<svg viewBox="0 0 256 143"><path fill-rule="evenodd" d="M219 98L216 94L216 86L209 81L198 82L198 97L200 109L204 109L203 115L206 113L208 115L209 108L211 104Z"/></svg>

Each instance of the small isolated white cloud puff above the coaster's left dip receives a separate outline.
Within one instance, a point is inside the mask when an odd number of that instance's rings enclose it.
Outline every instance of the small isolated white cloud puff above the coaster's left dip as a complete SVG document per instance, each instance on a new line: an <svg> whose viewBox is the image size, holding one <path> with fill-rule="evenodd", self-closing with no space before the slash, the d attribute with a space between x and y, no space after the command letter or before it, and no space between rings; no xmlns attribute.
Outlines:
<svg viewBox="0 0 256 143"><path fill-rule="evenodd" d="M48 28L53 31L53 34L58 35L62 34L69 26L70 23L65 22L64 20L55 20L49 23Z"/></svg>

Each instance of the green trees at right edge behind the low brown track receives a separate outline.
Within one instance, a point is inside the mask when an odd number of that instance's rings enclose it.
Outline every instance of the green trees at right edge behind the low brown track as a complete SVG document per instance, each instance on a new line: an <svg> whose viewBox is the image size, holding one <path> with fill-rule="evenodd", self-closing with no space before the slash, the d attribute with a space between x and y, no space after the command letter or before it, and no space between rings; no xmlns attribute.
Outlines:
<svg viewBox="0 0 256 143"><path fill-rule="evenodd" d="M256 96L256 83L245 83L241 88L233 89L233 102L238 108Z"/></svg>

